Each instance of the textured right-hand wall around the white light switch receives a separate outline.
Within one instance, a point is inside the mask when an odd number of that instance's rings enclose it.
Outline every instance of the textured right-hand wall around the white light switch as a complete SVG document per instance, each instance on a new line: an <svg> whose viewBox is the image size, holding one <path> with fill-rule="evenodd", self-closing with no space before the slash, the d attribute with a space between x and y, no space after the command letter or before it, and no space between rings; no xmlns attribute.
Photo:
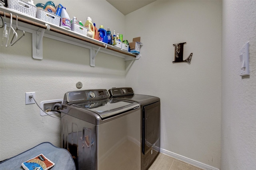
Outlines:
<svg viewBox="0 0 256 170"><path fill-rule="evenodd" d="M256 1L222 2L221 170L256 167ZM250 76L239 76L249 41Z"/></svg>

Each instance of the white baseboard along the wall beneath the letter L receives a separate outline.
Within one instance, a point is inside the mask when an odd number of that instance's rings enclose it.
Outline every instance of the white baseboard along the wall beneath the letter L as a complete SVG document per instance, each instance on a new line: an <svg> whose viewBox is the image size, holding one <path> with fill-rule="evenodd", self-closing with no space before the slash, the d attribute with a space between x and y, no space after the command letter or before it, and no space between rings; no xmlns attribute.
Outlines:
<svg viewBox="0 0 256 170"><path fill-rule="evenodd" d="M160 149L160 153L166 154L166 155L171 156L171 157L173 157L173 158L176 158L176 159L178 159L178 160L182 160L183 162L186 162L186 163L188 163L188 164L197 166L197 167L202 168L202 169L204 169L204 170L220 170L220 169L218 169L218 168L214 168L214 167L212 167L212 166L210 166L210 165L204 164L204 163L202 163L202 162L198 162L198 161L196 161L196 160L187 158L187 157L185 157L185 156L176 154L176 153L174 153L174 152L170 152L170 151L165 150L165 149Z"/></svg>

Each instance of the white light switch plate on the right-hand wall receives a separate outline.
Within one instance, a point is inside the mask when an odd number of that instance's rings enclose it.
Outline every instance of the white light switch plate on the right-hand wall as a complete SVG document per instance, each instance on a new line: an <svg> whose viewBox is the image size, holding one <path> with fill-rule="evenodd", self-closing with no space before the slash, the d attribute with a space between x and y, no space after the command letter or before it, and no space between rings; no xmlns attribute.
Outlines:
<svg viewBox="0 0 256 170"><path fill-rule="evenodd" d="M249 42L240 49L239 55L239 75L240 76L248 76L250 75L249 69Z"/></svg>

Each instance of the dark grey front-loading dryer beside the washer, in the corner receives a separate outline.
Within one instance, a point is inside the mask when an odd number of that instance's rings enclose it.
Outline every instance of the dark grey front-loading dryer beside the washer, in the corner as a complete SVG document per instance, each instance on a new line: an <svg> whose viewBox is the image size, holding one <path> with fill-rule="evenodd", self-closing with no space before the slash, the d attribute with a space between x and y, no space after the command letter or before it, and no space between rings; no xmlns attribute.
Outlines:
<svg viewBox="0 0 256 170"><path fill-rule="evenodd" d="M134 94L132 88L108 91L114 99L136 102L141 106L141 170L146 170L160 151L160 98Z"/></svg>

